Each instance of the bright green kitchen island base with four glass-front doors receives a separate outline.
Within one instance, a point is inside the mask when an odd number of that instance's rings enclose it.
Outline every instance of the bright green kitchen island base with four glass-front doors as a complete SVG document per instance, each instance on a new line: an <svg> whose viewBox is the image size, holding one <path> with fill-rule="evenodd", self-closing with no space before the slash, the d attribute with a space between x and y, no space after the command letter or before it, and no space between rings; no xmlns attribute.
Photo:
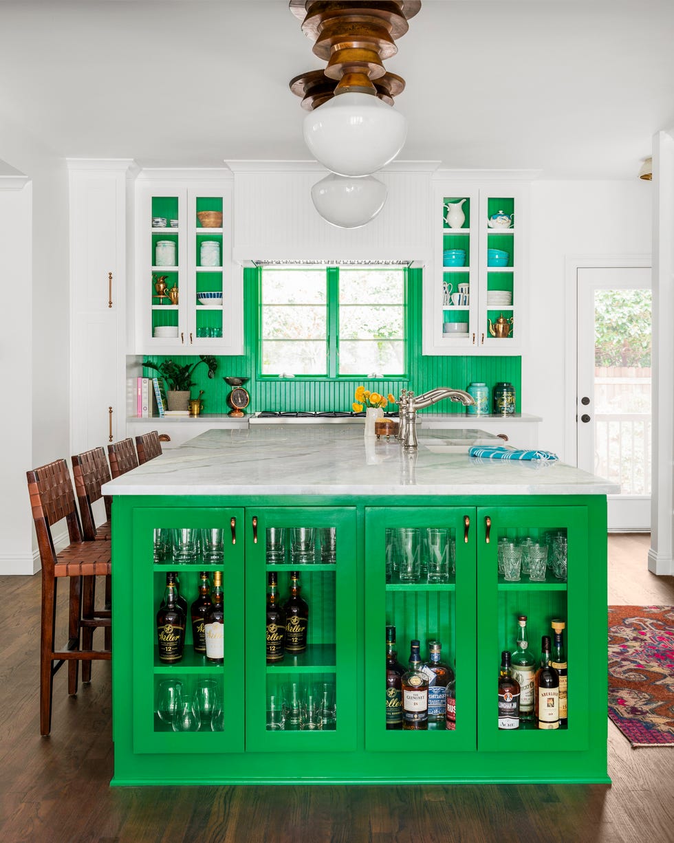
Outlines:
<svg viewBox="0 0 674 843"><path fill-rule="evenodd" d="M112 784L609 781L606 499L520 500L116 497ZM235 544L229 537L233 517ZM153 530L170 526L223 527L224 564L154 564ZM311 613L307 653L272 666L265 658L267 571L278 570L283 595L291 566L267 566L267 526L337 529L336 564L298 566ZM386 529L399 526L449 528L456 539L456 577L446 584L386 583ZM567 536L568 583L550 577L546 583L499 582L499 536L548 529ZM176 568L188 603L196 596L199 570L224 572L224 665L195 658L189 633L181 663L159 665L156 659L154 616L165 572ZM497 728L500 652L515 646L520 613L529 616L536 657L552 617L567 620L568 728ZM396 625L403 664L413 637L422 642L423 658L428 639L439 637L445 662L456 663L456 731L386 730L387 623ZM167 674L186 676L188 683L194 676L217 679L222 732L173 733L157 725L157 683ZM334 682L334 729L267 731L267 695L290 678Z"/></svg>

